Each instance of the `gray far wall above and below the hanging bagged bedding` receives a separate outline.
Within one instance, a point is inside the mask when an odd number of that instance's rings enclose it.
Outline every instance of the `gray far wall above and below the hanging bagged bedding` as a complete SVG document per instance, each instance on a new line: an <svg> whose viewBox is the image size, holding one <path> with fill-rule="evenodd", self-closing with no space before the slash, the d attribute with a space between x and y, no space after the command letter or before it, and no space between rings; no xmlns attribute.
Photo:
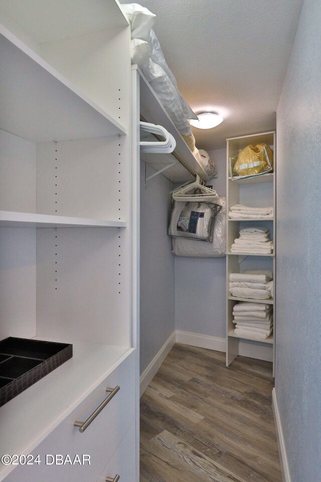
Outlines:
<svg viewBox="0 0 321 482"><path fill-rule="evenodd" d="M226 149L211 151L218 177L208 184L226 195ZM176 329L225 338L226 259L175 257Z"/></svg>

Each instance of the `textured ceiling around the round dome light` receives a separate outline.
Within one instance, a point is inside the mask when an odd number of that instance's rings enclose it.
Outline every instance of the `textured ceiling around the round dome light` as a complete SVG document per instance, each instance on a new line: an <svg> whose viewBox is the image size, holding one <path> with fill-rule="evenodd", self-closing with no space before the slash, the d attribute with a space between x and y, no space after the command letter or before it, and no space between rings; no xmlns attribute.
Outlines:
<svg viewBox="0 0 321 482"><path fill-rule="evenodd" d="M128 3L121 1L121 3ZM155 34L195 112L224 122L193 128L197 147L275 129L275 110L303 0L138 0L157 15Z"/></svg>

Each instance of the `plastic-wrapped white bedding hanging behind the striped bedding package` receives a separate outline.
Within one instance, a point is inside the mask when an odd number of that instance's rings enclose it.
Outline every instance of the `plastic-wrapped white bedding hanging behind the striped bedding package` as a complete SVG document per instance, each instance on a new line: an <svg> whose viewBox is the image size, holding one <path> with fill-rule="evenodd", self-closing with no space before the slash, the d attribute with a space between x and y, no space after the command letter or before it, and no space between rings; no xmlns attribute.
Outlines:
<svg viewBox="0 0 321 482"><path fill-rule="evenodd" d="M222 209L215 217L215 223L212 228L212 243L196 239L185 239L183 237L172 237L172 253L174 255L193 258L222 258L225 256L226 198L220 197L217 202L221 204Z"/></svg>

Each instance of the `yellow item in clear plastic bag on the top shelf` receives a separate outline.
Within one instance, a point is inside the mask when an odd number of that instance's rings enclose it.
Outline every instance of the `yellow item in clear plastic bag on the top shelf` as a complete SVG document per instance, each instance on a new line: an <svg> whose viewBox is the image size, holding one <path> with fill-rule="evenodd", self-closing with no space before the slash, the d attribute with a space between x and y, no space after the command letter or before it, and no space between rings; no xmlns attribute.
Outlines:
<svg viewBox="0 0 321 482"><path fill-rule="evenodd" d="M238 155L234 172L239 176L253 176L273 172L273 151L267 144L250 144Z"/></svg>

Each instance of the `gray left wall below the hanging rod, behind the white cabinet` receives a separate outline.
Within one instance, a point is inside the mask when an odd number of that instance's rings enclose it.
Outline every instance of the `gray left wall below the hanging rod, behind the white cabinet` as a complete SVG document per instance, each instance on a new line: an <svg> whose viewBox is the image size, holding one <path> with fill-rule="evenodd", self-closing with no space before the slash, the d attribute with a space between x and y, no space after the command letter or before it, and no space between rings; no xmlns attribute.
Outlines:
<svg viewBox="0 0 321 482"><path fill-rule="evenodd" d="M148 175L154 172L148 167ZM175 257L167 235L170 181L147 183L140 161L140 374L175 330Z"/></svg>

